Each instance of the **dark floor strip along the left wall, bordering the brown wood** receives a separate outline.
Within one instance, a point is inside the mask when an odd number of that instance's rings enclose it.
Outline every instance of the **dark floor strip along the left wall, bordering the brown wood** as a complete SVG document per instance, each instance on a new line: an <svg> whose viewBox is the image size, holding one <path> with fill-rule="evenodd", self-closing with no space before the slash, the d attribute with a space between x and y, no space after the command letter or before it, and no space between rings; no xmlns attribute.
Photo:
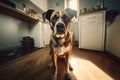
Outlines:
<svg viewBox="0 0 120 80"><path fill-rule="evenodd" d="M39 49L40 48L34 47L31 50L24 50L23 48L19 47L19 48L12 48L8 50L0 51L0 65L8 63L16 58L30 54L31 52L34 52Z"/></svg>

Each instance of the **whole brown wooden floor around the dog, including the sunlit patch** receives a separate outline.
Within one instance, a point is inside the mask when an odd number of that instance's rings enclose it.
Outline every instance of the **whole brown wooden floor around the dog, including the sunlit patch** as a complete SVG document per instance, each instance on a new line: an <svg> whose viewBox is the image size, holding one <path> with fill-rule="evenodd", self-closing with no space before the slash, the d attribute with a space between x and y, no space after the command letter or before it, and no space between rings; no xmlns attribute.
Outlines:
<svg viewBox="0 0 120 80"><path fill-rule="evenodd" d="M49 48L43 48L0 66L0 80L50 80L52 68ZM120 80L120 62L97 51L79 50L74 47L71 72L77 80ZM59 60L58 80L65 80L65 62Z"/></svg>

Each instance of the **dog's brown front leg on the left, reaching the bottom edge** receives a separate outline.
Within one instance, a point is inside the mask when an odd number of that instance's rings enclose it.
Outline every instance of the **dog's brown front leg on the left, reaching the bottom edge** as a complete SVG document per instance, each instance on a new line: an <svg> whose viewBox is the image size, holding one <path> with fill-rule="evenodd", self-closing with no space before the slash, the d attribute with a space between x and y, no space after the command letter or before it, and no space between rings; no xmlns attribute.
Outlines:
<svg viewBox="0 0 120 80"><path fill-rule="evenodd" d="M56 53L54 53L52 55L52 58L53 58L53 67L54 67L54 72L53 72L53 75L52 75L52 80L57 80L57 70L58 70L58 67L57 67L57 55L56 55Z"/></svg>

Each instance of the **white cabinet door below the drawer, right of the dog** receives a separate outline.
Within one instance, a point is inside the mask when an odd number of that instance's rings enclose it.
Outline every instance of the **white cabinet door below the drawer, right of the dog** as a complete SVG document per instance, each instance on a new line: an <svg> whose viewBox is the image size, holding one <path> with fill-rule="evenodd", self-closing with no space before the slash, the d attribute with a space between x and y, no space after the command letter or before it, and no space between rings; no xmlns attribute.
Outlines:
<svg viewBox="0 0 120 80"><path fill-rule="evenodd" d="M102 24L85 24L81 28L80 45L86 49L101 49Z"/></svg>

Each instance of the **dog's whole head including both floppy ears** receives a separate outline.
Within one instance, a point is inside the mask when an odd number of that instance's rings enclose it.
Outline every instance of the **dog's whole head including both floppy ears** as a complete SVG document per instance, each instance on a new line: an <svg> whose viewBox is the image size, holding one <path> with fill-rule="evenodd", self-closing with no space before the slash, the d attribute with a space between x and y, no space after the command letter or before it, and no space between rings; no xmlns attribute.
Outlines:
<svg viewBox="0 0 120 80"><path fill-rule="evenodd" d="M65 11L49 9L43 13L42 16L44 20L47 19L49 21L54 36L64 37L70 28L71 19L77 16L77 12L70 8Z"/></svg>

